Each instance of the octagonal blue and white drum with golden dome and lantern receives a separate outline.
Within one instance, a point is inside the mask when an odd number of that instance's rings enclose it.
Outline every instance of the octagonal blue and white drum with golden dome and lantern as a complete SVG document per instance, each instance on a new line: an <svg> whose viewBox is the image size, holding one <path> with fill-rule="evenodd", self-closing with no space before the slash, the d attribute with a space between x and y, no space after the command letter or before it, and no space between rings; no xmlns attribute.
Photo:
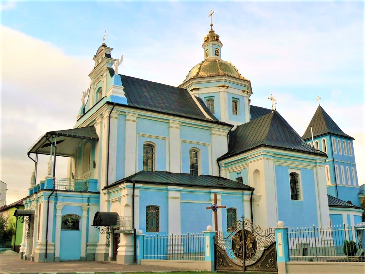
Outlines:
<svg viewBox="0 0 365 274"><path fill-rule="evenodd" d="M204 60L193 66L184 82L193 98L199 97L222 122L241 125L250 121L251 82L230 62L222 60L223 43L213 30L204 37Z"/></svg>

